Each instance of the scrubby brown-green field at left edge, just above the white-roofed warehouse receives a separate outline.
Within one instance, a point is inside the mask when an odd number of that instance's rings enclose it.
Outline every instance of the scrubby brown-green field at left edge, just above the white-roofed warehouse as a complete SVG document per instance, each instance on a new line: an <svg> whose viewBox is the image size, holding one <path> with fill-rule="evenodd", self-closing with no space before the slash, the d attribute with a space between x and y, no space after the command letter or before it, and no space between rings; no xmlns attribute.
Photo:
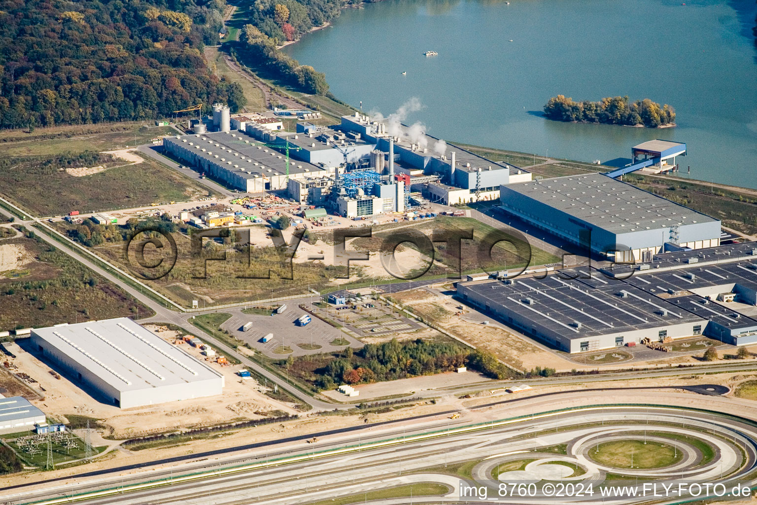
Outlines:
<svg viewBox="0 0 757 505"><path fill-rule="evenodd" d="M0 272L0 329L76 323L152 313L115 285L34 238L9 238L29 263ZM23 271L23 276L14 273Z"/></svg>

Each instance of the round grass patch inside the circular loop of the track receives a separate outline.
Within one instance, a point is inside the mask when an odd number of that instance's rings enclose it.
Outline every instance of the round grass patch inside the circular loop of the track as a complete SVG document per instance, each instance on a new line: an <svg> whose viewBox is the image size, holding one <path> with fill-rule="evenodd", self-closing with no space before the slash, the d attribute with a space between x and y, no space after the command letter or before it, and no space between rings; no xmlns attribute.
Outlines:
<svg viewBox="0 0 757 505"><path fill-rule="evenodd" d="M599 444L599 450L590 449L587 455L597 463L615 468L662 468L677 463L683 451L657 441L616 440Z"/></svg>

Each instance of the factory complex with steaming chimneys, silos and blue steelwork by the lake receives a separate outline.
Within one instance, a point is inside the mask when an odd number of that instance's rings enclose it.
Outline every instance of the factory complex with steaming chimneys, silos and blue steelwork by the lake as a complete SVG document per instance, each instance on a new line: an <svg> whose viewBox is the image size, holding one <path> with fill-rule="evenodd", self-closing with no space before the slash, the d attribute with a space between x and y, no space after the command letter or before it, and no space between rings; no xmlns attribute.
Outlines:
<svg viewBox="0 0 757 505"><path fill-rule="evenodd" d="M360 113L335 126L277 118L230 117L213 106L214 132L164 139L164 150L207 176L244 192L286 190L298 203L328 206L345 217L403 212L425 202L496 200L500 186L531 173L497 163L401 124ZM232 129L232 126L234 129Z"/></svg>

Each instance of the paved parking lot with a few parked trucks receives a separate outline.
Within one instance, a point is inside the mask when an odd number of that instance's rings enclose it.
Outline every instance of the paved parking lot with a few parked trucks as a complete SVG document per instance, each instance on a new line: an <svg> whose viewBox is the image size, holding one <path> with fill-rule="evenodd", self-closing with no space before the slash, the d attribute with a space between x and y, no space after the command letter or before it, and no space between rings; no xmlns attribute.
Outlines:
<svg viewBox="0 0 757 505"><path fill-rule="evenodd" d="M241 309L229 310L232 316L221 327L241 341L250 344L256 351L273 358L340 351L346 345L332 344L332 341L338 338L346 340L352 348L363 347L360 341L317 317L312 317L312 321L307 326L295 324L300 316L307 314L299 307L300 304L308 304L307 298L286 302L286 310L273 316L247 314ZM252 327L244 332L241 328L246 323L252 323ZM263 342L263 337L269 333L273 333L273 338ZM288 349L291 349L291 352Z"/></svg>

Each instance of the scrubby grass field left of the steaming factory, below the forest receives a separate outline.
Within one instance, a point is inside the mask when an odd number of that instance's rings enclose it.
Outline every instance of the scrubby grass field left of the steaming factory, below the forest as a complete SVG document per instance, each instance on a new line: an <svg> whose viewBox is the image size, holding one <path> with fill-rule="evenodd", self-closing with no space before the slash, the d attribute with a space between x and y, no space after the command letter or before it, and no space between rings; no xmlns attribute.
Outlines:
<svg viewBox="0 0 757 505"><path fill-rule="evenodd" d="M0 194L39 216L67 214L70 210L84 213L139 207L210 195L188 177L151 159L83 177L56 171L45 175L46 187L55 189L55 195L51 195L40 189L39 174L23 158L17 159L18 164L0 167Z"/></svg>

